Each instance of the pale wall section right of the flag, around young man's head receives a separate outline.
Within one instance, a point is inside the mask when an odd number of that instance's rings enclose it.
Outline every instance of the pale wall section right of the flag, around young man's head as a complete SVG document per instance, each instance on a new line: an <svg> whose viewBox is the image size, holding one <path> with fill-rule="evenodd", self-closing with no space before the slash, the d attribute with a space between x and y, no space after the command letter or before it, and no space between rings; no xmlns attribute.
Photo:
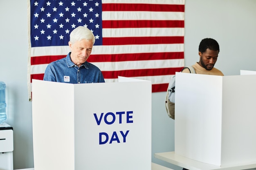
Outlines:
<svg viewBox="0 0 256 170"><path fill-rule="evenodd" d="M220 53L216 68L224 75L239 75L240 69L256 71L255 0L186 0L185 64L199 61L203 38L216 39Z"/></svg>

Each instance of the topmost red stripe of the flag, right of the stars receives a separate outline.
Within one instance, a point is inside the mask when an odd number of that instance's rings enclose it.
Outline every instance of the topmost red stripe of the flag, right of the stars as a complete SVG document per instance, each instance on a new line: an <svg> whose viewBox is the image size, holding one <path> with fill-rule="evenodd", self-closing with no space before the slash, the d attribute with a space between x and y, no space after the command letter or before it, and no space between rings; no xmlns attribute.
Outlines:
<svg viewBox="0 0 256 170"><path fill-rule="evenodd" d="M102 4L102 11L175 11L184 12L185 5L178 4Z"/></svg>

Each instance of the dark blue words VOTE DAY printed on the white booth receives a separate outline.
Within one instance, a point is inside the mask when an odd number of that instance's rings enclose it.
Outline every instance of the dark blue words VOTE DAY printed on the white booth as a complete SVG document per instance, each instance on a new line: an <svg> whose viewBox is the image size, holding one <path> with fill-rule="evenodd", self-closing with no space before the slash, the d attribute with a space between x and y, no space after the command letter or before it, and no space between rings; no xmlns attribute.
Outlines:
<svg viewBox="0 0 256 170"><path fill-rule="evenodd" d="M116 122L116 120L118 121L117 122L118 124L133 123L132 114L133 114L133 111L127 111L127 112L122 111L122 112L116 112L115 114L112 113L112 112L108 112L106 114L101 113L101 115L99 117L96 113L94 113L93 115L94 115L94 118L96 120L97 125L100 126L101 123L105 123L105 124L108 124L108 125L114 124ZM112 135L108 135L108 133L106 133L106 132L100 132L99 133L99 144L100 145L106 144L106 143L108 143L108 141L109 141L109 144L112 144L113 141L117 141L117 143L120 143L119 138L123 139L121 141L123 143L125 143L128 132L129 132L129 130L127 130L126 132L123 132L123 131L116 132L116 131L114 131L112 133Z"/></svg>

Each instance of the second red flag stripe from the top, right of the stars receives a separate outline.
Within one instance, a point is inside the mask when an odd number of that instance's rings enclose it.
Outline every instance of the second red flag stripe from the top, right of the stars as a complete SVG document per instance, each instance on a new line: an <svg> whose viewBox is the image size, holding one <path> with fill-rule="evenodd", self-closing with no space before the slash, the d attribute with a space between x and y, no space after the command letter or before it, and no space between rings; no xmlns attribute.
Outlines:
<svg viewBox="0 0 256 170"><path fill-rule="evenodd" d="M103 20L103 28L184 28L184 20Z"/></svg>

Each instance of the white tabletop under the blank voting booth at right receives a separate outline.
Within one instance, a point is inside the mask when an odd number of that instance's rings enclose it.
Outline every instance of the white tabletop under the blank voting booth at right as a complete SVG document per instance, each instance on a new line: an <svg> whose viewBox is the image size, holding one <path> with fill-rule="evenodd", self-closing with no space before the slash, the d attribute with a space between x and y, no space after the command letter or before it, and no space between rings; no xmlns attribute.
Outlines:
<svg viewBox="0 0 256 170"><path fill-rule="evenodd" d="M256 168L256 162L239 163L239 164L228 165L228 166L211 165L208 163L202 163L199 161L195 161L193 159L182 157L180 155L175 154L174 151L155 153L155 158L161 159L163 161L172 163L174 165L177 165L189 170L245 170L249 168Z"/></svg>

